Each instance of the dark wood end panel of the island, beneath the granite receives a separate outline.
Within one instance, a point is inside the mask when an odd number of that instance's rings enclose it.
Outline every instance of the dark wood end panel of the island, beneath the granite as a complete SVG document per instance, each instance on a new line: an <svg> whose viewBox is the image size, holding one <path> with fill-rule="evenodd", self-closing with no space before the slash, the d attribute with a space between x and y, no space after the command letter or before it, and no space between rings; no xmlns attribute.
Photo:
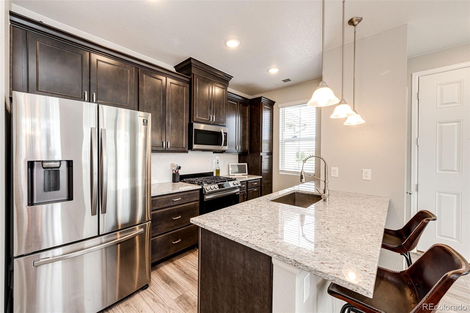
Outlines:
<svg viewBox="0 0 470 313"><path fill-rule="evenodd" d="M271 312L271 257L199 230L198 312Z"/></svg>

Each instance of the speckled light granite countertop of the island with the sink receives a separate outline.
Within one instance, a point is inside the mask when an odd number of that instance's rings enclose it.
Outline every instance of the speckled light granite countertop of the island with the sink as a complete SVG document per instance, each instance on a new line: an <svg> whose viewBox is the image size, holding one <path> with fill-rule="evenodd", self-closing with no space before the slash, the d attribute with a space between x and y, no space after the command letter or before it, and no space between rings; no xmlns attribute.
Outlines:
<svg viewBox="0 0 470 313"><path fill-rule="evenodd" d="M330 190L308 208L271 202L312 181L191 219L191 223L372 297L389 197Z"/></svg>

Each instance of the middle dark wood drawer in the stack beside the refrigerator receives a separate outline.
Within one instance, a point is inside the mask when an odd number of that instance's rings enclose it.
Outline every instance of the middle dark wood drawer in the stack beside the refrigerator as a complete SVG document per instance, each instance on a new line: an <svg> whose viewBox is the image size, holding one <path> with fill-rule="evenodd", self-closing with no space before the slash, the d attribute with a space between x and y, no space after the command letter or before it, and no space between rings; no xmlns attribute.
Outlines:
<svg viewBox="0 0 470 313"><path fill-rule="evenodd" d="M199 201L152 212L152 236L191 224L189 219L199 215Z"/></svg>

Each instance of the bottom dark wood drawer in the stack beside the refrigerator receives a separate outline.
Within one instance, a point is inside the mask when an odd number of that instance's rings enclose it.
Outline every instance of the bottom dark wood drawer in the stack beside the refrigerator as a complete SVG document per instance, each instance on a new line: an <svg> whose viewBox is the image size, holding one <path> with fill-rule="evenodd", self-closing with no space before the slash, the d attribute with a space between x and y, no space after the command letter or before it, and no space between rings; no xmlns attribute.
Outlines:
<svg viewBox="0 0 470 313"><path fill-rule="evenodd" d="M197 243L197 226L190 225L152 239L152 262Z"/></svg>

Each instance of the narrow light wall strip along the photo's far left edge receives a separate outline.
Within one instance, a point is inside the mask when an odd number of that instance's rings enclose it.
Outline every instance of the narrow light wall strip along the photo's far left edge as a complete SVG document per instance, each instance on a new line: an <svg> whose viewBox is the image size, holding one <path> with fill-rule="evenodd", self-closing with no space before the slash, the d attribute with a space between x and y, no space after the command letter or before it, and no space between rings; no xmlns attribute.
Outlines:
<svg viewBox="0 0 470 313"><path fill-rule="evenodd" d="M4 103L9 102L9 17L8 10L11 8L11 1L0 1L0 95ZM5 151L5 108L0 110L0 151ZM0 310L3 310L4 295L4 262L5 262L5 166L2 155L0 164Z"/></svg>

